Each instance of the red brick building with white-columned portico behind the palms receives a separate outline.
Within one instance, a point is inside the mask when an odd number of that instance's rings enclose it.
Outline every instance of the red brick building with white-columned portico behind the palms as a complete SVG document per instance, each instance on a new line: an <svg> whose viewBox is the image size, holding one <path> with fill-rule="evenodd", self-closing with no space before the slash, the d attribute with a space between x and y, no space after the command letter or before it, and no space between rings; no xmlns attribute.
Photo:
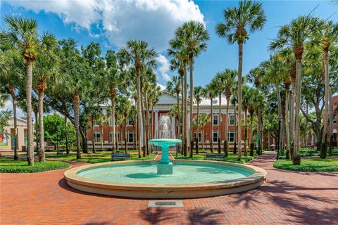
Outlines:
<svg viewBox="0 0 338 225"><path fill-rule="evenodd" d="M181 102L180 102L181 103ZM150 118L151 118L151 136L152 138L156 139L161 136L160 130L158 129L158 122L162 115L168 115L173 105L177 104L176 96L168 93L167 91L162 91L162 94L159 98L159 101L156 105L154 105L154 112L150 111ZM197 112L197 104L194 101L194 117L196 117ZM226 98L222 96L221 98L221 118L219 120L218 110L219 110L219 98L216 97L213 99L213 117L210 122L206 124L206 126L199 131L199 146L202 147L202 142L204 143L204 148L211 147L211 139L213 139L213 147L218 147L218 135L220 135L220 141L223 146L223 141L225 140L225 119L226 119ZM108 108L111 105L101 105L103 108L104 113L107 112ZM189 109L189 103L188 103ZM200 114L207 114L210 116L211 113L211 106L210 106L210 99L203 99L199 104L199 113ZM154 115L154 116L152 116ZM242 116L244 118L244 114ZM88 140L88 148L93 148L92 139L94 137L95 148L101 148L101 139L103 142L104 148L112 148L112 134L113 134L113 118L108 117L108 123L104 124L94 124L94 136L92 129L87 130L87 140ZM175 127L175 134L171 134L172 138L175 136L177 138L177 122L175 121L174 117L170 117L172 127ZM189 113L188 118L189 121ZM187 123L189 127L189 122ZM234 108L233 105L230 105L229 110L229 146L233 148L234 146ZM220 126L220 134L218 134L218 127ZM127 148L132 149L134 148L134 139L135 133L134 130L136 127L134 126L133 121L128 121L127 126L123 126L123 124L118 124L116 126L117 136L118 136L118 143L120 144L120 148L124 148L125 146L125 132L126 132L126 140L127 140ZM102 130L102 131L101 131ZM249 135L249 131L248 131ZM142 133L143 136L143 133ZM244 139L244 127L242 129L242 137ZM196 127L194 127L194 138L196 139ZM143 139L143 138L142 138ZM188 137L189 143L189 137ZM244 147L244 141L242 141L242 148Z"/></svg>

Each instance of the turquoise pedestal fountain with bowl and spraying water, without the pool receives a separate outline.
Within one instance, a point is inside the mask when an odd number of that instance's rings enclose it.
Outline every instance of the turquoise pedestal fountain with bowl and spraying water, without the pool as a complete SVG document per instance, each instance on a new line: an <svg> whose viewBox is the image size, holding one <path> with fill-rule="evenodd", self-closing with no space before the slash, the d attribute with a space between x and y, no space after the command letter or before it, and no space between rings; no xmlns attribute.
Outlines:
<svg viewBox="0 0 338 225"><path fill-rule="evenodd" d="M162 115L159 121L158 131L160 139L151 139L149 143L155 146L161 146L162 158L157 164L157 174L173 174L173 162L169 160L169 147L175 146L177 143L182 143L180 139L170 139L175 137L175 132L171 126L170 117Z"/></svg>

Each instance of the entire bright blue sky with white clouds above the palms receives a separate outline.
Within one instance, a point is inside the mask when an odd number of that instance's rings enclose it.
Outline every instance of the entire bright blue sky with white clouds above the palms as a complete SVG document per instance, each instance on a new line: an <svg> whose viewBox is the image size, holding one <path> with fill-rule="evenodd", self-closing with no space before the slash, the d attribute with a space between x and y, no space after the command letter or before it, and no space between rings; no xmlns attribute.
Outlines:
<svg viewBox="0 0 338 225"><path fill-rule="evenodd" d="M187 20L206 24L211 35L206 52L196 58L194 85L208 84L216 72L237 68L237 44L229 45L217 37L215 25L223 21L223 9L238 1L99 1L49 0L1 1L1 28L5 15L35 18L42 31L58 39L73 37L80 45L99 42L103 54L118 51L127 39L145 39L160 54L158 83L165 85L175 72L168 71L168 40L175 28ZM268 59L268 45L281 25L299 15L313 15L338 21L338 7L327 1L262 1L267 22L261 32L251 34L244 46L244 74Z"/></svg>

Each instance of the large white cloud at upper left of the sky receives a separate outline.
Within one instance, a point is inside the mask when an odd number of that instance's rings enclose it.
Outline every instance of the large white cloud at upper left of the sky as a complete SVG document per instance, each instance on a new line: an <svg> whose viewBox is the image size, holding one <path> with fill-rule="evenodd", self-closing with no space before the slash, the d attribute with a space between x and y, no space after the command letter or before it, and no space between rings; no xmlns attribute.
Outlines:
<svg viewBox="0 0 338 225"><path fill-rule="evenodd" d="M175 29L189 20L204 23L199 6L190 0L35 0L8 1L35 12L56 13L65 24L75 24L92 34L92 25L101 27L112 44L124 46L129 39L144 39L156 51L168 48ZM97 26L100 24L101 26Z"/></svg>

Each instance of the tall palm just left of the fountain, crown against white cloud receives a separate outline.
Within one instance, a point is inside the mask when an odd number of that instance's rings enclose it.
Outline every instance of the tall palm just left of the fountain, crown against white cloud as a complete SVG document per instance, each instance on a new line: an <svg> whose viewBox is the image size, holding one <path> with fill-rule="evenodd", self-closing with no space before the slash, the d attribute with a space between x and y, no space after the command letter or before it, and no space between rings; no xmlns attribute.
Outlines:
<svg viewBox="0 0 338 225"><path fill-rule="evenodd" d="M139 123L137 135L138 140L141 141L142 127L142 95L141 95L141 75L142 68L156 68L156 51L148 48L148 43L141 40L127 41L127 46L120 49L118 53L120 56L120 63L122 65L134 65L136 71L136 86L137 86L137 121ZM139 145L139 158L141 158L141 145ZM145 149L143 155L145 155Z"/></svg>

